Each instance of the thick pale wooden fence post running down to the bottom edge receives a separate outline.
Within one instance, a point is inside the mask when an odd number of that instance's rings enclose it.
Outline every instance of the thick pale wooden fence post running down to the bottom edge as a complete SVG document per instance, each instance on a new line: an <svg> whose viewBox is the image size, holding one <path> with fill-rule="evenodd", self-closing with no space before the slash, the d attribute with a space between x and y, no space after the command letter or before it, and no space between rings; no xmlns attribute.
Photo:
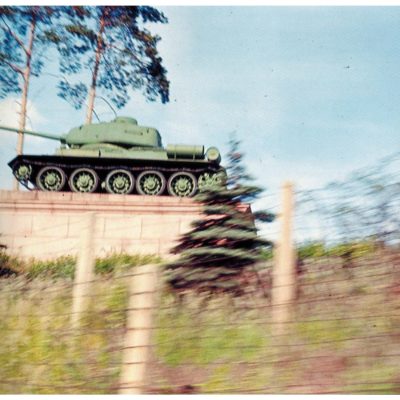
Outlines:
<svg viewBox="0 0 400 400"><path fill-rule="evenodd" d="M129 290L120 394L141 394L144 390L157 296L158 269L157 264L142 265L134 269L135 275Z"/></svg>

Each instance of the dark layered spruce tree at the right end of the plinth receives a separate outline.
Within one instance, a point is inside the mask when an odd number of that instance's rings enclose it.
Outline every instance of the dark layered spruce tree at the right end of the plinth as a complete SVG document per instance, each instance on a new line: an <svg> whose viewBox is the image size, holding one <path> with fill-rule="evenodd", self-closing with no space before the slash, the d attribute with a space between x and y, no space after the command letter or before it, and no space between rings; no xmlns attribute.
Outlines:
<svg viewBox="0 0 400 400"><path fill-rule="evenodd" d="M251 213L249 203L262 189L242 164L239 141L230 140L228 178L221 185L204 188L195 200L202 204L202 218L192 223L172 249L179 257L166 264L168 283L176 291L192 290L208 294L240 295L261 249L271 242L257 235L256 221L269 222L273 215Z"/></svg>

